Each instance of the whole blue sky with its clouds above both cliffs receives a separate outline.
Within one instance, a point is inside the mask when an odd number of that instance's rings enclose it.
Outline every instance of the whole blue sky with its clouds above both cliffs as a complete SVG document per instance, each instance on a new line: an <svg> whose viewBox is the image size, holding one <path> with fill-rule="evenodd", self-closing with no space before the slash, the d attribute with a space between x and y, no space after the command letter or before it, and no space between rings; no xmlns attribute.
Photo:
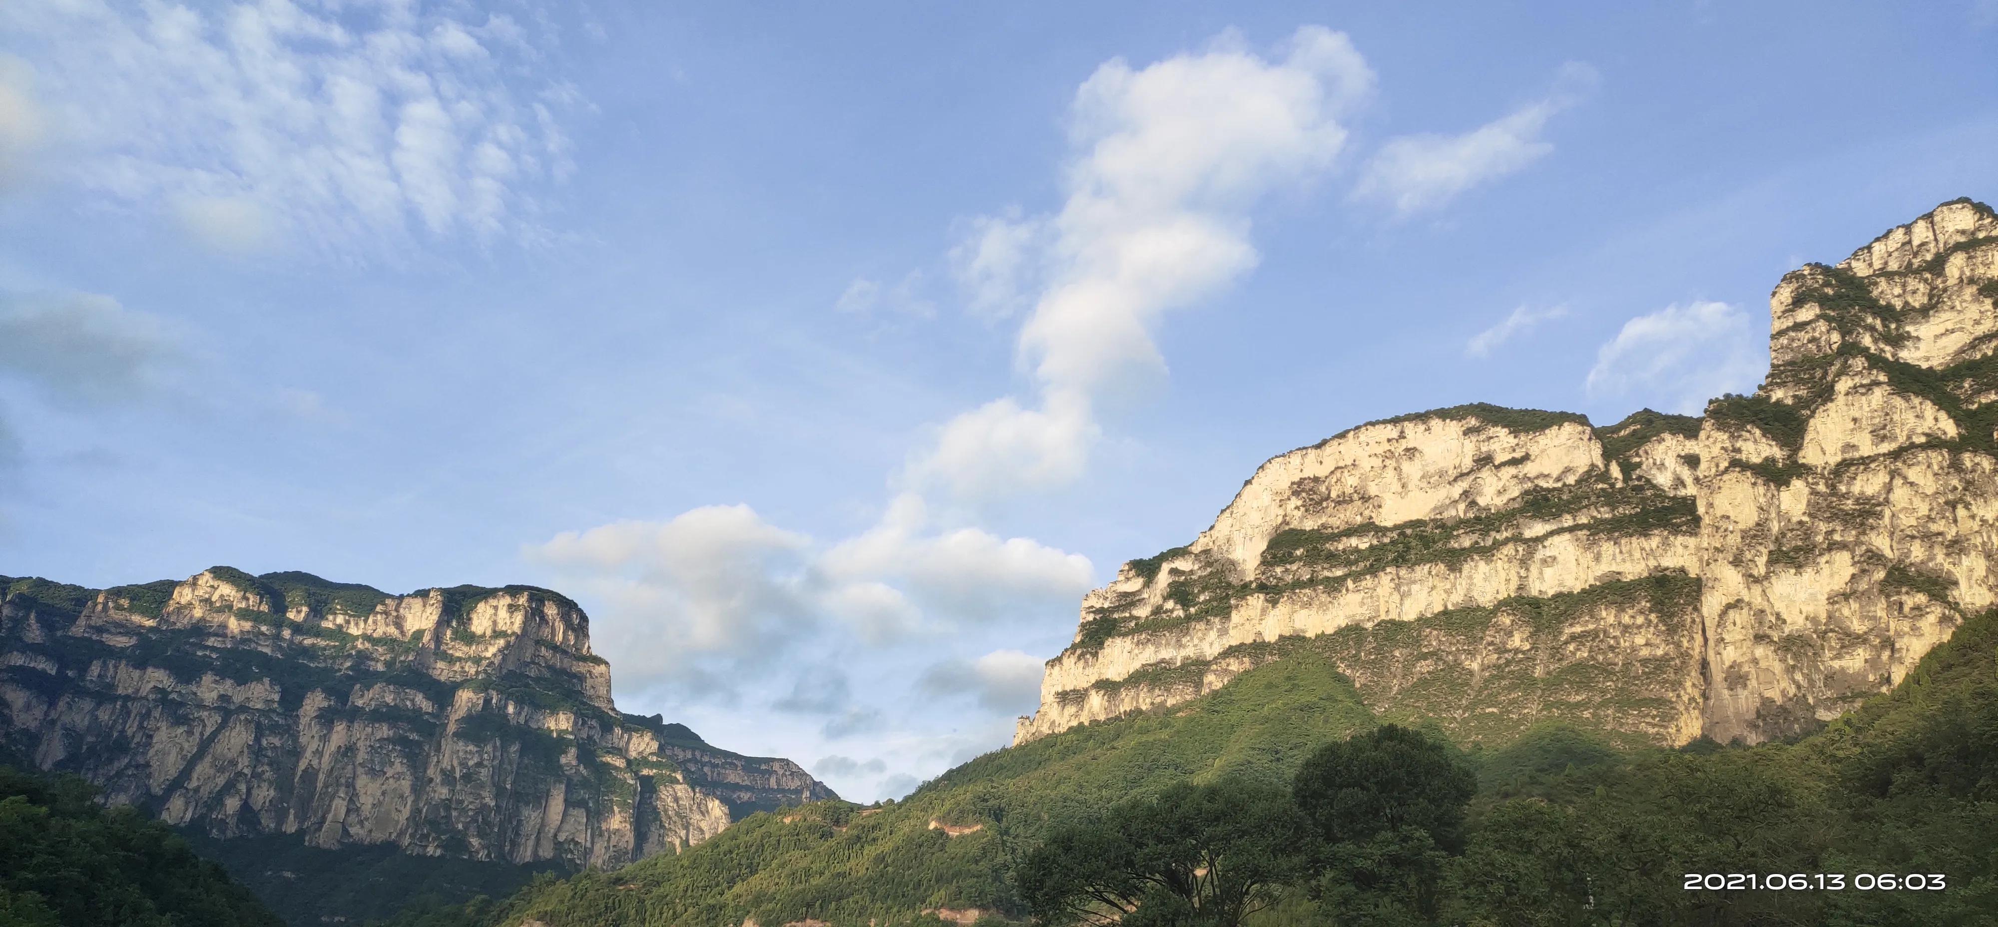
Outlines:
<svg viewBox="0 0 1998 927"><path fill-rule="evenodd" d="M897 795L1269 456L1752 390L1994 178L1988 0L16 0L0 573L551 585Z"/></svg>

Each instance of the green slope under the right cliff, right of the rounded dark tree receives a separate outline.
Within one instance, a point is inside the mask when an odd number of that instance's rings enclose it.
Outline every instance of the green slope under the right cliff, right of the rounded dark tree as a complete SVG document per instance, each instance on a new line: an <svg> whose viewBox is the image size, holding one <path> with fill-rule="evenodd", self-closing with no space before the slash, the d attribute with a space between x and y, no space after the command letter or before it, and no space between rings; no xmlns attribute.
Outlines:
<svg viewBox="0 0 1998 927"><path fill-rule="evenodd" d="M1614 753L1554 731L1483 765L1451 923L1998 923L1998 609L1794 743Z"/></svg>

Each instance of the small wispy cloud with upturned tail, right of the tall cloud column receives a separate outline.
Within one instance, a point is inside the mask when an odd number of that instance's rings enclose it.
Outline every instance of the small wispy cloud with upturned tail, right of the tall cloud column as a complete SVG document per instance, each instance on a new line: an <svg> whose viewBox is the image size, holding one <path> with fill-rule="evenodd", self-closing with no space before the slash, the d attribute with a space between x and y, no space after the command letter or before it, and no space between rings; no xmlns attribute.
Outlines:
<svg viewBox="0 0 1998 927"><path fill-rule="evenodd" d="M1554 150L1540 138L1546 120L1580 102L1594 82L1594 68L1570 62L1560 68L1546 98L1471 132L1391 138L1367 162L1353 196L1385 202L1407 216L1441 208L1479 184L1522 170Z"/></svg>

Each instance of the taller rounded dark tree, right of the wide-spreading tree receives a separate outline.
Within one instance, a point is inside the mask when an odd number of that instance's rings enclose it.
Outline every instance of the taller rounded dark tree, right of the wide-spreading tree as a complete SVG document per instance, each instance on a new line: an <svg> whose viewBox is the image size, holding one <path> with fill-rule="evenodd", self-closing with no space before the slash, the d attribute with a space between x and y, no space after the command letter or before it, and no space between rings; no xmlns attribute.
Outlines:
<svg viewBox="0 0 1998 927"><path fill-rule="evenodd" d="M1315 837L1311 895L1335 923L1427 923L1443 861L1465 849L1477 777L1419 731L1381 725L1329 743L1297 771Z"/></svg>

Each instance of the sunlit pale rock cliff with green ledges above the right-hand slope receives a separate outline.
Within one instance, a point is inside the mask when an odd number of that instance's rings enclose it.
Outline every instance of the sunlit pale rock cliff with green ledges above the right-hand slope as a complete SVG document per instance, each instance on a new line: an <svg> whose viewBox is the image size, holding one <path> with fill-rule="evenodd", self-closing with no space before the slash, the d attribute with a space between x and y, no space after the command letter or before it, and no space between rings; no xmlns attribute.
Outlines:
<svg viewBox="0 0 1998 927"><path fill-rule="evenodd" d="M1275 458L1083 599L1015 743L1271 659L1469 739L1836 717L1998 593L1994 298L1998 218L1960 200L1788 274L1768 382L1704 418L1463 406Z"/></svg>

